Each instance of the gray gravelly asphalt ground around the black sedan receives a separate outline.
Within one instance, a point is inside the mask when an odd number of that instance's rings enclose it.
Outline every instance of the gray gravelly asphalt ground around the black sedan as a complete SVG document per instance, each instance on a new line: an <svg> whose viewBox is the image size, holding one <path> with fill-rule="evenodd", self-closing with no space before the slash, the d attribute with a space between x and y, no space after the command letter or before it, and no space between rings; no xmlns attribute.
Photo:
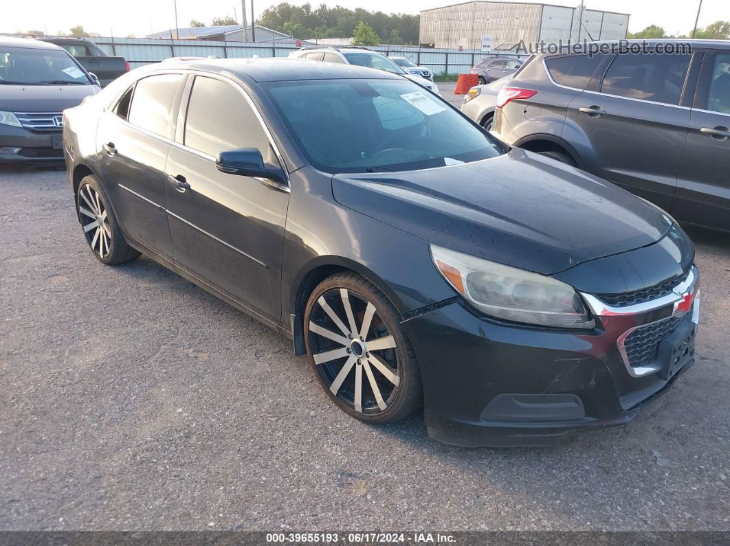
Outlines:
<svg viewBox="0 0 730 546"><path fill-rule="evenodd" d="M629 426L463 449L367 426L291 343L91 256L61 171L0 171L0 529L730 529L730 238L693 230L698 362Z"/></svg>

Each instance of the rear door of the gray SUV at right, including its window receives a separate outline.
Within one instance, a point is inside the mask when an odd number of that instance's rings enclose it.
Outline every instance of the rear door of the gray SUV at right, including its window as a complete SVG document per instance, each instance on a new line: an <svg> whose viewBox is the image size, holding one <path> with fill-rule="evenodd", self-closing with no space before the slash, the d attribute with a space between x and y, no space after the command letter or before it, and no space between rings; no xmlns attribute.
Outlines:
<svg viewBox="0 0 730 546"><path fill-rule="evenodd" d="M613 58L602 79L571 102L564 138L585 142L586 171L669 210L690 122L683 105L692 55Z"/></svg>

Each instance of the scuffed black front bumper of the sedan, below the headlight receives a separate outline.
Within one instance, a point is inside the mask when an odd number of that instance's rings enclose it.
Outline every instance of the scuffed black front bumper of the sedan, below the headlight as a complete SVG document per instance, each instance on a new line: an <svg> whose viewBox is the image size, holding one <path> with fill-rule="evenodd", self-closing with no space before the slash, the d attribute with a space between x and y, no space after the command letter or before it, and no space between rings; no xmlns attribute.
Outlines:
<svg viewBox="0 0 730 546"><path fill-rule="evenodd" d="M693 351L671 374L635 373L623 359L624 332L667 316L694 340L699 298L679 314L669 303L596 316L588 331L498 323L458 302L405 321L429 436L464 446L556 445L581 430L628 423L694 364Z"/></svg>

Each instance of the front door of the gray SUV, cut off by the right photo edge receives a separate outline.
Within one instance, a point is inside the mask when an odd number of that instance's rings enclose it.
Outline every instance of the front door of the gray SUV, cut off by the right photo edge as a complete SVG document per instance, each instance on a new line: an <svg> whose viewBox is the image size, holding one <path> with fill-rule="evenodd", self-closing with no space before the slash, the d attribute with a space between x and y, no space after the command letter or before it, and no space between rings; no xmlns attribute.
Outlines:
<svg viewBox="0 0 730 546"><path fill-rule="evenodd" d="M730 230L730 51L709 51L691 112L672 214Z"/></svg>

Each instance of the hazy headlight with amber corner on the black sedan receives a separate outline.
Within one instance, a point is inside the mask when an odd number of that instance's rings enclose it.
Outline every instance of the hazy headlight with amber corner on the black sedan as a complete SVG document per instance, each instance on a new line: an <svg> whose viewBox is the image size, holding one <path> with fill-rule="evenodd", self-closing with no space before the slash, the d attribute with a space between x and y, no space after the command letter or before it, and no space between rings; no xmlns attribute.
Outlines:
<svg viewBox="0 0 730 546"><path fill-rule="evenodd" d="M561 328L593 328L575 289L552 277L431 245L437 269L466 301L496 319Z"/></svg>

